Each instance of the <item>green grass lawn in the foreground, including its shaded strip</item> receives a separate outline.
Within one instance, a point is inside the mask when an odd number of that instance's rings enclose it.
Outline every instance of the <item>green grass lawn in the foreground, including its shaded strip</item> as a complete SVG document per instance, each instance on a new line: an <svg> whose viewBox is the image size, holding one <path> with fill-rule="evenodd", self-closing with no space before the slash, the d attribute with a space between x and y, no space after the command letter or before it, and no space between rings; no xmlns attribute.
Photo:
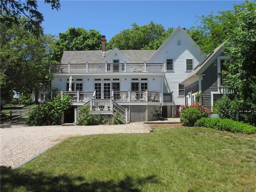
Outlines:
<svg viewBox="0 0 256 192"><path fill-rule="evenodd" d="M1 192L255 192L256 135L200 127L72 137L18 169Z"/></svg>

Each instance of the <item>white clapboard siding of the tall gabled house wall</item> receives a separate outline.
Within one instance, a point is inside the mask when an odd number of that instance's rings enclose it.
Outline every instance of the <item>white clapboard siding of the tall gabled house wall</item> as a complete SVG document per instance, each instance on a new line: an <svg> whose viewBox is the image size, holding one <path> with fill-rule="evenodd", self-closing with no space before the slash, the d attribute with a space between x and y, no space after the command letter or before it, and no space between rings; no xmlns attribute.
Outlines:
<svg viewBox="0 0 256 192"><path fill-rule="evenodd" d="M193 59L193 68L195 68L204 57L200 55L201 51L194 47L186 35L181 32L176 33L150 60L150 62L166 62L166 59L173 59L174 70L166 72L163 92L173 92L175 105L185 104L185 97L178 95L178 83L181 83L190 73L190 71L186 71L186 59ZM178 40L181 40L181 45L178 45Z"/></svg>

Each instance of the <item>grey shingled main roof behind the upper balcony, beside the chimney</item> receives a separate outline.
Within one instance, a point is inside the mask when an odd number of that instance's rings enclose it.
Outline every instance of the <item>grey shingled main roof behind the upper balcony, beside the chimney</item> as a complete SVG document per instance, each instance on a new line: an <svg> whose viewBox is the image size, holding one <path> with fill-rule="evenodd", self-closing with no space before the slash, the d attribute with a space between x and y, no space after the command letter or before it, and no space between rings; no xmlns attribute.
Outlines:
<svg viewBox="0 0 256 192"><path fill-rule="evenodd" d="M133 63L146 62L155 50L114 50L120 51L129 61ZM64 51L61 63L71 62L72 64L101 63L113 50L101 52L101 50Z"/></svg>

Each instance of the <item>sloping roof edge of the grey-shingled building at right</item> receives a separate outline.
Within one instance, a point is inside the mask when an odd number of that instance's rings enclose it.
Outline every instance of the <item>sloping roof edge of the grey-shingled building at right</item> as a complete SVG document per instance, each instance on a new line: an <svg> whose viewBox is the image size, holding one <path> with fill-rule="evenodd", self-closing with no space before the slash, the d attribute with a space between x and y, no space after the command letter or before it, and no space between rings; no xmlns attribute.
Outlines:
<svg viewBox="0 0 256 192"><path fill-rule="evenodd" d="M226 41L220 44L216 49L214 49L211 53L205 56L205 58L202 59L199 65L197 65L196 68L194 68L193 71L191 71L188 77L186 77L181 84L188 82L189 80L193 79L193 77L195 77L196 75L203 74L204 71L211 65L211 63L214 62L214 60L217 59L218 56L220 56L220 54L223 51L223 45L227 41L231 42L231 38L228 38Z"/></svg>

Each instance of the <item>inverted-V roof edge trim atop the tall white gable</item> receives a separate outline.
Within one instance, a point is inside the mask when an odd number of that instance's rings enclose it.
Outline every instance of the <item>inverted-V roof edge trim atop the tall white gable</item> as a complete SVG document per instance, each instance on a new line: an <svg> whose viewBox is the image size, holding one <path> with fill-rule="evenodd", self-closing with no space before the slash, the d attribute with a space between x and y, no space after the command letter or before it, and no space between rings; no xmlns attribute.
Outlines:
<svg viewBox="0 0 256 192"><path fill-rule="evenodd" d="M161 46L158 48L158 50L155 51L155 53L149 58L148 61L150 62L150 61L158 54L158 52L161 52L161 51L164 49L165 45L168 44L169 41L171 41L171 39L174 38L177 33L182 33L182 35L184 35L185 38L187 38L187 39L191 42L191 44L196 45L196 42L191 38L191 36L189 36L188 33L187 33L181 26L179 26L179 27L177 27L177 29L174 30L173 33L164 41L164 43L161 44ZM199 47L198 45L196 45L195 47L201 52L201 49L200 49L200 47Z"/></svg>

